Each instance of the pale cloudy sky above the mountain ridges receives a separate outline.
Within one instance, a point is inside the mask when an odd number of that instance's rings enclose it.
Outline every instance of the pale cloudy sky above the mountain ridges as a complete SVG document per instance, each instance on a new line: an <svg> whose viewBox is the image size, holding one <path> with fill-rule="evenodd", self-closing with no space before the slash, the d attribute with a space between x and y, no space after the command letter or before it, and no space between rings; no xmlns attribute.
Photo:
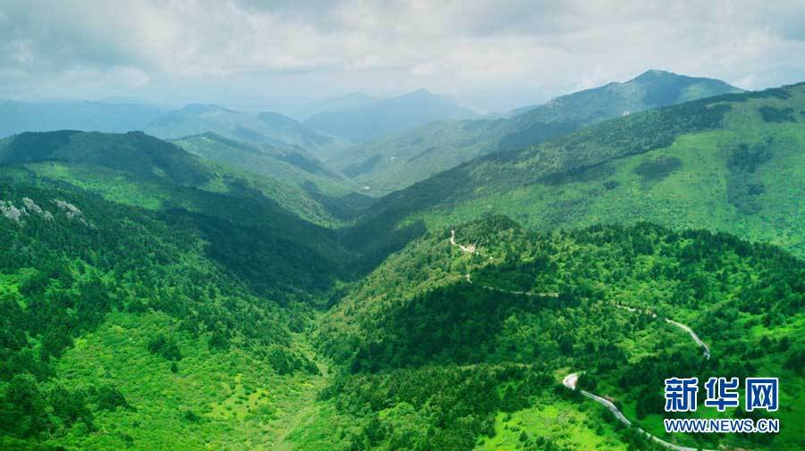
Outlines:
<svg viewBox="0 0 805 451"><path fill-rule="evenodd" d="M0 98L291 113L416 88L482 111L649 68L805 80L805 2L0 0Z"/></svg>

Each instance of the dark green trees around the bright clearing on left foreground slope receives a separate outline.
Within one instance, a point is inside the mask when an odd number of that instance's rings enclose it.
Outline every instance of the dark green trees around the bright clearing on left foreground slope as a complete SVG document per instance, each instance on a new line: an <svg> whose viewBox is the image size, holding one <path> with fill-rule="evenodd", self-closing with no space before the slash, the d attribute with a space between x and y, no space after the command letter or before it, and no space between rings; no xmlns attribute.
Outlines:
<svg viewBox="0 0 805 451"><path fill-rule="evenodd" d="M59 358L110 313L164 313L177 332L212 353L237 347L278 374L318 374L292 350L292 332L309 322L307 309L281 307L235 276L237 268L211 259L196 222L64 189L5 184L0 192L6 440L59 437L76 428L92 433L97 413L136 408L109 375L74 388L59 378ZM226 262L232 258L226 251L214 252ZM170 334L148 338L143 352L182 371L182 351Z"/></svg>

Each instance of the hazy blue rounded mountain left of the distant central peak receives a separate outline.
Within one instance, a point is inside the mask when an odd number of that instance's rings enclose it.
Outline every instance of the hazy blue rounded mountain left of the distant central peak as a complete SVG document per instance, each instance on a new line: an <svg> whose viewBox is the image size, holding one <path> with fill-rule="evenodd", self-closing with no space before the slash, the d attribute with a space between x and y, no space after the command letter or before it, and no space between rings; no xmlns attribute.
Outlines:
<svg viewBox="0 0 805 451"><path fill-rule="evenodd" d="M300 146L326 161L349 146L340 138L311 130L279 113L243 113L211 104L190 104L148 123L145 132L163 139L213 132L252 144Z"/></svg>

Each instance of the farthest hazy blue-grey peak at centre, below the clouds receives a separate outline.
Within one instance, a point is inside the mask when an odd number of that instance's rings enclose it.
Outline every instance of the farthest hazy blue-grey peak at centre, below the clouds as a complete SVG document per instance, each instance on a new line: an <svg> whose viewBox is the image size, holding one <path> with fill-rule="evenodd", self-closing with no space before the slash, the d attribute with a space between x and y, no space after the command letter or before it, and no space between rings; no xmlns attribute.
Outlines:
<svg viewBox="0 0 805 451"><path fill-rule="evenodd" d="M419 89L360 108L314 114L304 124L359 143L432 121L474 115L443 96Z"/></svg>

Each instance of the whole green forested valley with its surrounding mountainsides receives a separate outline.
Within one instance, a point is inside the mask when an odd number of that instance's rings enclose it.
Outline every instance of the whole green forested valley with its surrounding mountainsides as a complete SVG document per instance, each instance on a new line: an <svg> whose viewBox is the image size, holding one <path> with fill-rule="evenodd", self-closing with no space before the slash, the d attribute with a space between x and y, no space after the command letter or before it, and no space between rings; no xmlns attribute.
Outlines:
<svg viewBox="0 0 805 451"><path fill-rule="evenodd" d="M209 104L3 138L0 447L805 447L805 87L739 91L648 71L355 146ZM361 162L441 128L427 171ZM666 433L679 375L779 377L774 415L685 418L784 428Z"/></svg>

